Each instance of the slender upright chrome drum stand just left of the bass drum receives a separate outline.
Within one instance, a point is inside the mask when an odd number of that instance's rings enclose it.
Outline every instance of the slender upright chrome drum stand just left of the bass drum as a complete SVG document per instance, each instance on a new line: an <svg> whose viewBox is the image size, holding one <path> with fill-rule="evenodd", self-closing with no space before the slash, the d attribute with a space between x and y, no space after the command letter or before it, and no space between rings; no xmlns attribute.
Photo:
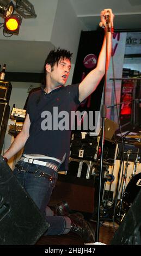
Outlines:
<svg viewBox="0 0 141 256"><path fill-rule="evenodd" d="M124 218L124 215L121 213L121 209L122 209L122 203L123 203L123 199L124 199L124 192L125 192L125 183L126 183L126 178L127 178L127 169L128 169L128 166L130 165L130 163L128 163L128 160L129 160L129 156L131 154L131 151L132 150L128 150L127 152L124 152L127 154L127 161L126 161L126 164L125 164L125 174L123 175L123 185L122 185L122 192L121 192L121 198L120 198L120 201L119 201L119 213L117 214L117 216L120 218L120 221L123 220Z"/></svg>

